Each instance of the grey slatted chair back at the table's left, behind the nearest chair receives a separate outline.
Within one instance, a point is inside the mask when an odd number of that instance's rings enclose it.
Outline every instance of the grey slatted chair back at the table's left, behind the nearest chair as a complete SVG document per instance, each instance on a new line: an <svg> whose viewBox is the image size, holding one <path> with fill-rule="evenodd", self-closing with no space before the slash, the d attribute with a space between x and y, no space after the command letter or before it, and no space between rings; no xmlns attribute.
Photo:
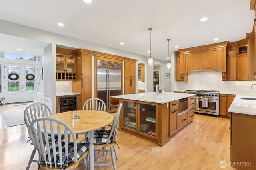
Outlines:
<svg viewBox="0 0 256 170"><path fill-rule="evenodd" d="M33 103L26 107L24 111L24 121L26 126L28 127L29 124L39 117L46 117L52 115L50 108L44 103Z"/></svg>

